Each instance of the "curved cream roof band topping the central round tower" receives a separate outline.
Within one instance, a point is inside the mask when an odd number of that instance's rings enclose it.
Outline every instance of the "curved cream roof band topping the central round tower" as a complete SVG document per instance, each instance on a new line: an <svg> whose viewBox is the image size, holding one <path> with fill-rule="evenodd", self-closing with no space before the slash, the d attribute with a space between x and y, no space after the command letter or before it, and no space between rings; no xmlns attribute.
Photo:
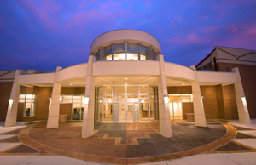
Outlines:
<svg viewBox="0 0 256 165"><path fill-rule="evenodd" d="M96 37L90 45L90 53L95 53L100 47L107 47L113 43L141 43L144 46L151 46L154 52L161 52L159 41L144 31L137 30L115 30L108 31Z"/></svg>

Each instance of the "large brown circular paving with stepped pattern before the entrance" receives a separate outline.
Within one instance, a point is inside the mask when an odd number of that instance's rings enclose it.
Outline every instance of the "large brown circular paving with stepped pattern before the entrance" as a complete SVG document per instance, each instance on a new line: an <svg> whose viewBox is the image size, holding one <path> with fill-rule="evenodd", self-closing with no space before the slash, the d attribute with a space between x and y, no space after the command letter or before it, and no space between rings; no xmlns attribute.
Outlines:
<svg viewBox="0 0 256 165"><path fill-rule="evenodd" d="M19 139L39 151L91 162L131 164L157 162L211 151L236 137L227 123L207 122L207 128L192 122L172 122L172 138L159 134L159 122L100 123L95 134L81 138L82 122L60 123L46 129L36 122L22 129Z"/></svg>

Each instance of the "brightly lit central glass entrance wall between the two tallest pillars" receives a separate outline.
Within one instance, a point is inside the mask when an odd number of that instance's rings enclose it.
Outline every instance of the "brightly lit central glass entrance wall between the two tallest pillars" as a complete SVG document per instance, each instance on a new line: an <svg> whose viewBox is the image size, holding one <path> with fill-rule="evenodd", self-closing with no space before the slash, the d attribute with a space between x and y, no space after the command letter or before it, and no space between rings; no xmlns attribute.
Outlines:
<svg viewBox="0 0 256 165"><path fill-rule="evenodd" d="M156 92L156 88L148 85L98 87L95 120L101 122L158 120Z"/></svg>

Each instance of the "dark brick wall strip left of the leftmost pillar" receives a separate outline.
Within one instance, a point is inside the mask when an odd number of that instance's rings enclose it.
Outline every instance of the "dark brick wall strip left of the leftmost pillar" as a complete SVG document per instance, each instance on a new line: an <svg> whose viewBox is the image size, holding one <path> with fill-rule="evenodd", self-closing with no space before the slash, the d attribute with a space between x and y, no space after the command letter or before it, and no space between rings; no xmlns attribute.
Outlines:
<svg viewBox="0 0 256 165"><path fill-rule="evenodd" d="M13 82L0 82L0 121L5 121Z"/></svg>

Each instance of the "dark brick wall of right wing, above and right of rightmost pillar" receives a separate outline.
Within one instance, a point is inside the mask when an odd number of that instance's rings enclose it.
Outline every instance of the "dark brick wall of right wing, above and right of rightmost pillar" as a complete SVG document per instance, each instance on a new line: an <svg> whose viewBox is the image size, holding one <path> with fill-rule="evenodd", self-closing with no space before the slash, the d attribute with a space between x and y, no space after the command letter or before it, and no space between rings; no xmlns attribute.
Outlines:
<svg viewBox="0 0 256 165"><path fill-rule="evenodd" d="M247 107L251 118L256 118L256 65L241 65L218 63L219 71L232 71L238 67L244 94L247 97Z"/></svg>

